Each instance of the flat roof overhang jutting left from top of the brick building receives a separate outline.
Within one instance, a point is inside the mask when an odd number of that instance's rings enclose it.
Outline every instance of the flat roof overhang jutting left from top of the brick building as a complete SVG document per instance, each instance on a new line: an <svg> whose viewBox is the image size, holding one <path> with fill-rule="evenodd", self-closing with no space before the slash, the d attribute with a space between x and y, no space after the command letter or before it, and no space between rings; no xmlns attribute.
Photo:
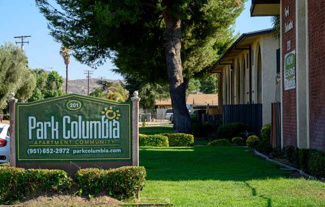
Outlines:
<svg viewBox="0 0 325 207"><path fill-rule="evenodd" d="M279 16L280 0L252 0L251 16Z"/></svg>

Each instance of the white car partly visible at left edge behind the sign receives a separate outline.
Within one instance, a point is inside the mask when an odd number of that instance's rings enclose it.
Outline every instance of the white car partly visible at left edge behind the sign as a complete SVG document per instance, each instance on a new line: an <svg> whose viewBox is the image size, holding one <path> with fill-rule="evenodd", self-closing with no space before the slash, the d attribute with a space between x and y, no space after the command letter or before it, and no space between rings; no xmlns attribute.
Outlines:
<svg viewBox="0 0 325 207"><path fill-rule="evenodd" d="M0 123L0 163L10 160L9 125Z"/></svg>

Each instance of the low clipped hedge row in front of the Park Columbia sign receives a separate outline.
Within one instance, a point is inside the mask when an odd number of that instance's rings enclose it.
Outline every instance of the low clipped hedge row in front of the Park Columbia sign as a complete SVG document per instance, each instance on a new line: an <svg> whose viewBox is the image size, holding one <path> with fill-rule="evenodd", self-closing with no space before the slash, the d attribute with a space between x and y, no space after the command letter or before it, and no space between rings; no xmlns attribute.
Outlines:
<svg viewBox="0 0 325 207"><path fill-rule="evenodd" d="M126 166L102 170L81 169L75 181L80 192L94 195L106 190L108 195L124 200L142 190L146 177L144 167ZM11 204L36 191L61 192L70 189L73 180L63 170L23 169L0 166L0 205Z"/></svg>

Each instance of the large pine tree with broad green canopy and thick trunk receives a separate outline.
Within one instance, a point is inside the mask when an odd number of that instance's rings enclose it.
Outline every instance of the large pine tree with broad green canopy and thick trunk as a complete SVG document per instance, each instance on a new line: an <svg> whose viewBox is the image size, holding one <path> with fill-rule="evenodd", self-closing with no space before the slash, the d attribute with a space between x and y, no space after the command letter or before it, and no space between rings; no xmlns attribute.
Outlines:
<svg viewBox="0 0 325 207"><path fill-rule="evenodd" d="M190 132L189 78L204 71L232 40L243 0L36 0L55 40L96 67L113 58L120 73L168 80L174 125Z"/></svg>

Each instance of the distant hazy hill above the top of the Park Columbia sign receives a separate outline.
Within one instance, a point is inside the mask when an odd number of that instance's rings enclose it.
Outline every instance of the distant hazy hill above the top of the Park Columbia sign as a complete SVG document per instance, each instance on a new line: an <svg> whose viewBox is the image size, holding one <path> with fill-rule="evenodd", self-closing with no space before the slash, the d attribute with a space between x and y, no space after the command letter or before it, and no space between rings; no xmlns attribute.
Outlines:
<svg viewBox="0 0 325 207"><path fill-rule="evenodd" d="M89 79L89 93L94 91L94 88L99 87L99 85L96 83L99 80L105 80L111 83L120 82L120 80L91 78ZM87 83L88 79L68 80L68 94L76 93L87 95ZM65 80L62 85L62 89L65 91Z"/></svg>

